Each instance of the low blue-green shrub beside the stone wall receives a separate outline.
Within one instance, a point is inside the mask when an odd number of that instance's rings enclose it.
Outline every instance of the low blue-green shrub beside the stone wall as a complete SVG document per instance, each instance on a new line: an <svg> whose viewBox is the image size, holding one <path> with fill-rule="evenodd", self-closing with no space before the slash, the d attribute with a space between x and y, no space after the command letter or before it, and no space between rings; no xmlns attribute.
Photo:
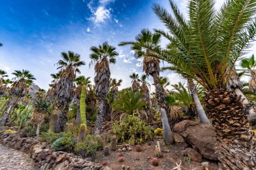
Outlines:
<svg viewBox="0 0 256 170"><path fill-rule="evenodd" d="M75 136L71 133L63 134L61 138L58 138L51 144L51 148L56 151L71 151L75 143Z"/></svg>

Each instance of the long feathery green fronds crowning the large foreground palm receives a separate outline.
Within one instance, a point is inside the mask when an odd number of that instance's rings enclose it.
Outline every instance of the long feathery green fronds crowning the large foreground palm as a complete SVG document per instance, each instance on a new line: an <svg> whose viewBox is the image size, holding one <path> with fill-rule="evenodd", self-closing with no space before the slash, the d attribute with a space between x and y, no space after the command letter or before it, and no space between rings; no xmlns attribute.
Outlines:
<svg viewBox="0 0 256 170"><path fill-rule="evenodd" d="M166 60L186 78L195 79L206 89L226 87L236 61L246 54L255 39L255 0L229 0L220 11L214 0L189 1L189 21L170 0L173 14L160 5L153 9L168 32L155 30L169 40L166 49L144 48L154 51L152 56Z"/></svg>

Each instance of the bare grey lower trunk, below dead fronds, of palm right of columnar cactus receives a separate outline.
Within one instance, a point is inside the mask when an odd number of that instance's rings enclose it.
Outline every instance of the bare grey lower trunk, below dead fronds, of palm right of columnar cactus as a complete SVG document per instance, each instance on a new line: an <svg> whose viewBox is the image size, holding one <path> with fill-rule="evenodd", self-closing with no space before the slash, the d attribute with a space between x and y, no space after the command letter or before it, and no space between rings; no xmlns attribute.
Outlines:
<svg viewBox="0 0 256 170"><path fill-rule="evenodd" d="M97 120L96 120L96 125L95 125L95 136L99 135L102 133L102 126L103 126L103 120L104 120L104 108L105 108L105 99L102 99L100 97L98 101L98 114L97 114Z"/></svg>

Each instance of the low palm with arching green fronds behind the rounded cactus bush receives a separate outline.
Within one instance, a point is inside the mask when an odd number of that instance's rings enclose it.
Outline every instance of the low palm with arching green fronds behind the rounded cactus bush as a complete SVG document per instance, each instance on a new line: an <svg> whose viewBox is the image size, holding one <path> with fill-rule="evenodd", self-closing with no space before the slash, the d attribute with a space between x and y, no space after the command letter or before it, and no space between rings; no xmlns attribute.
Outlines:
<svg viewBox="0 0 256 170"><path fill-rule="evenodd" d="M117 111L133 114L133 112L141 110L146 105L145 101L141 101L141 96L139 92L123 90L120 91L119 98L111 106Z"/></svg>

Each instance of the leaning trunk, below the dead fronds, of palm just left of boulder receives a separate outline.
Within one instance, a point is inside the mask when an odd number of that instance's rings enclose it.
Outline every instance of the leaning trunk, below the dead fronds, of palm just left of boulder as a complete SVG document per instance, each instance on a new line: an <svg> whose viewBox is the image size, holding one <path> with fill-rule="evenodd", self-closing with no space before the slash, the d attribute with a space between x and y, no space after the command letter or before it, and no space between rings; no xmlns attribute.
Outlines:
<svg viewBox="0 0 256 170"><path fill-rule="evenodd" d="M162 116L162 127L164 129L164 142L165 144L173 144L173 134L170 129L170 124L168 123L168 116L166 110L169 110L169 107L164 98L164 91L159 83L158 74L154 73L153 75L154 85L156 87L156 98L158 99L158 105L160 105L160 112Z"/></svg>

